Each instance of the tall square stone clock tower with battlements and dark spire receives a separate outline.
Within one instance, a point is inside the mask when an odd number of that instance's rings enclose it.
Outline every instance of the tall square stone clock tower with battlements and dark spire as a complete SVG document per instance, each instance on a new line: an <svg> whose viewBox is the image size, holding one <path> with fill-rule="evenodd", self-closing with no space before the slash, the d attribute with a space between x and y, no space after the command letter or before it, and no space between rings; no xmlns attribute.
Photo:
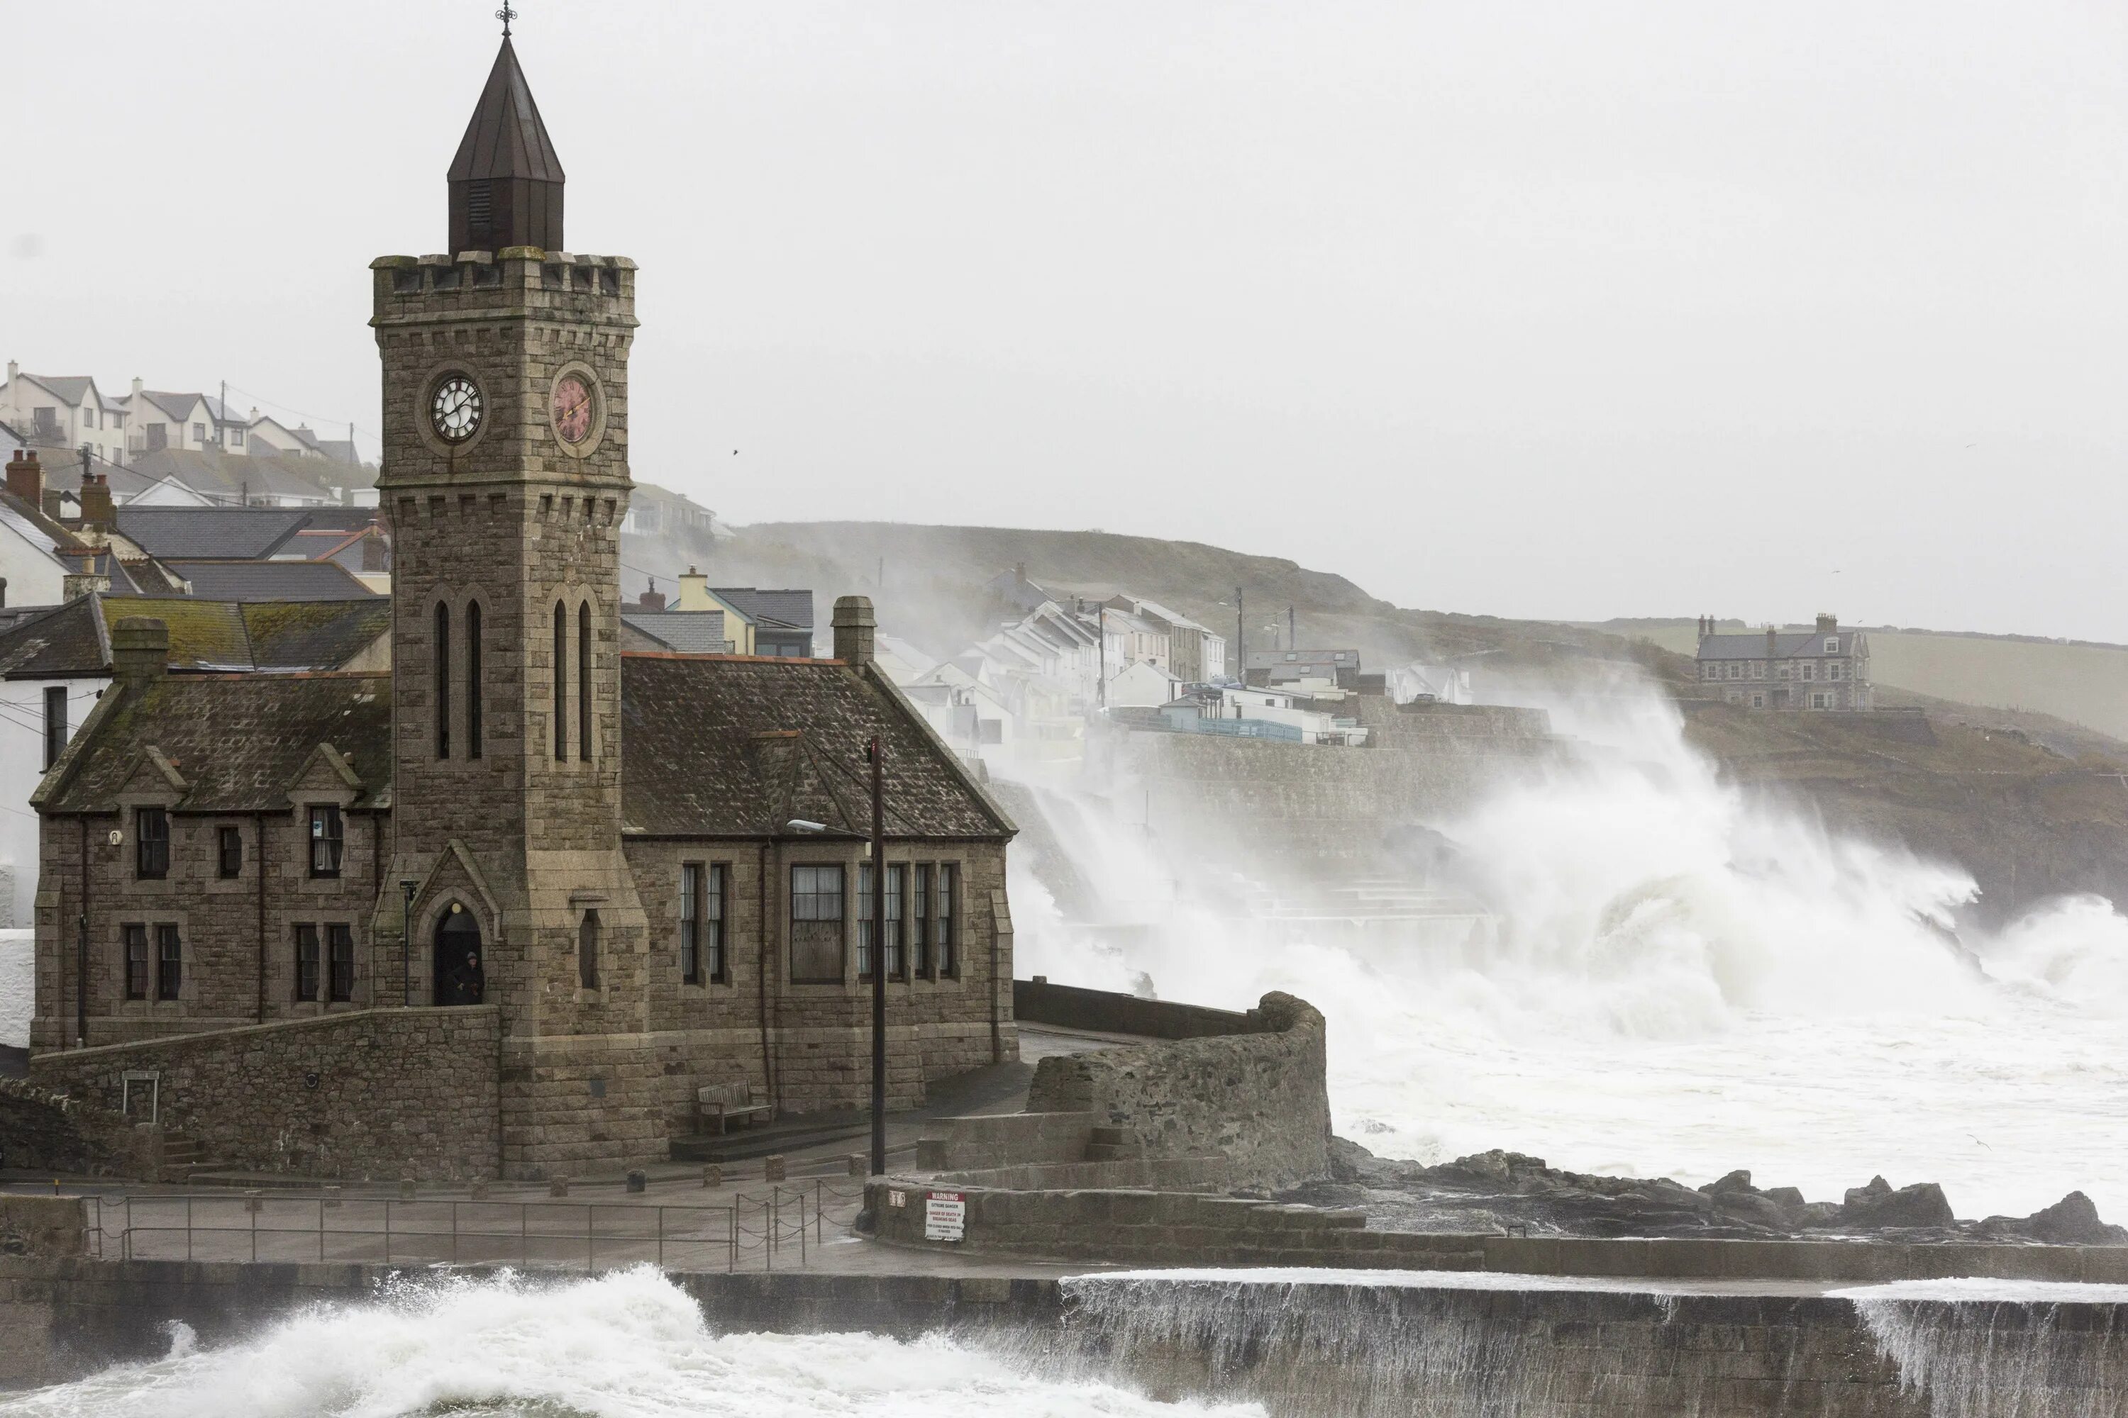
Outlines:
<svg viewBox="0 0 2128 1418"><path fill-rule="evenodd" d="M377 1001L500 1008L504 1176L604 1157L651 1105L617 1057L647 965L621 855L636 270L562 251L562 185L504 36L451 162L449 251L372 261L396 838Z"/></svg>

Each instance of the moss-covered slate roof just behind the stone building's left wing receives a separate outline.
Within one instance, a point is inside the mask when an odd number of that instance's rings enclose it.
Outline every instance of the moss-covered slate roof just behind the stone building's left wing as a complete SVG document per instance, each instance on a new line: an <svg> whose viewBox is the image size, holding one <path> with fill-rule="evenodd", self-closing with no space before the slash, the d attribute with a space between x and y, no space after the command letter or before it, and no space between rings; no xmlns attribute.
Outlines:
<svg viewBox="0 0 2128 1418"><path fill-rule="evenodd" d="M392 602L236 604L192 597L81 595L0 625L0 678L111 672L111 627L123 617L170 627L170 668L336 670L392 629Z"/></svg>

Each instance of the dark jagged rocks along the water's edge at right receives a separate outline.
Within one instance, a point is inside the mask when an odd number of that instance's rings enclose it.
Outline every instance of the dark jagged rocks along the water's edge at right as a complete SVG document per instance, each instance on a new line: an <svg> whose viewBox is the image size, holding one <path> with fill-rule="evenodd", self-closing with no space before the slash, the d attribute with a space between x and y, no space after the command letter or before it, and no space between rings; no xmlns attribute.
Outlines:
<svg viewBox="0 0 2128 1418"><path fill-rule="evenodd" d="M1522 1152L1475 1152L1426 1167L1330 1140L1330 1180L1281 1201L1360 1208L1394 1231L1509 1231L1528 1235L1700 1239L1898 1239L2028 1246L2128 1246L2079 1191L2030 1216L1958 1220L1934 1182L1871 1178L1841 1201L1807 1201L1794 1186L1760 1188L1749 1171L1707 1186L1668 1178L1605 1178L1547 1167Z"/></svg>

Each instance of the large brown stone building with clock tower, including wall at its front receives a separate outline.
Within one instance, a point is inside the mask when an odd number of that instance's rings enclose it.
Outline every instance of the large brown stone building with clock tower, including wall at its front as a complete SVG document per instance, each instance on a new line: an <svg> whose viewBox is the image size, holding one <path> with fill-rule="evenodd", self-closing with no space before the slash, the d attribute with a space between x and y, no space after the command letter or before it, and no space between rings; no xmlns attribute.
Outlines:
<svg viewBox="0 0 2128 1418"><path fill-rule="evenodd" d="M624 651L636 268L560 251L562 183L504 38L451 255L372 264L389 672L172 676L160 623L115 627L34 797L34 1080L160 1069L223 1161L385 1176L660 1157L709 1084L860 1103L875 740L890 1095L1017 1057L1013 825L870 604L834 659ZM409 1103L409 1059L472 1082Z"/></svg>

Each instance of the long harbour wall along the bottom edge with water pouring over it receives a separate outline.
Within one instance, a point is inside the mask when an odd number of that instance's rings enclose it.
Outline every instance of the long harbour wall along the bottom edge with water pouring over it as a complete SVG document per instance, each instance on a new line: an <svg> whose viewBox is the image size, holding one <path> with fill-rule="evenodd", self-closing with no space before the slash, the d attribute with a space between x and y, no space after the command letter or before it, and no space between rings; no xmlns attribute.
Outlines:
<svg viewBox="0 0 2128 1418"><path fill-rule="evenodd" d="M217 1346L306 1305L396 1303L468 1276L483 1271L0 1259L0 1384L157 1358L172 1322ZM670 1282L719 1333L945 1333L1028 1369L1251 1399L1281 1418L2096 1418L2128 1395L2128 1324L2102 1299L1339 1271Z"/></svg>

